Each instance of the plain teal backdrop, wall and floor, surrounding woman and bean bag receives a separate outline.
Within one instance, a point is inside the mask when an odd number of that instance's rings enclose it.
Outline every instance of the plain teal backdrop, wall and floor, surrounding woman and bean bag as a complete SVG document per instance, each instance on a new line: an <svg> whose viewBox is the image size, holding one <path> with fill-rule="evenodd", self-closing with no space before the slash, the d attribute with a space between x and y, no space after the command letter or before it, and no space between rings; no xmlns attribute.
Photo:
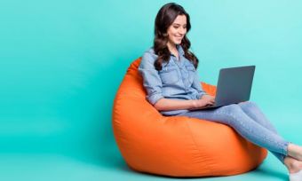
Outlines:
<svg viewBox="0 0 302 181"><path fill-rule="evenodd" d="M153 42L169 1L0 2L0 180L172 180L127 168L113 137L115 92ZM256 65L251 100L282 136L302 144L302 2L175 1L201 81ZM272 154L256 170L198 180L286 180Z"/></svg>

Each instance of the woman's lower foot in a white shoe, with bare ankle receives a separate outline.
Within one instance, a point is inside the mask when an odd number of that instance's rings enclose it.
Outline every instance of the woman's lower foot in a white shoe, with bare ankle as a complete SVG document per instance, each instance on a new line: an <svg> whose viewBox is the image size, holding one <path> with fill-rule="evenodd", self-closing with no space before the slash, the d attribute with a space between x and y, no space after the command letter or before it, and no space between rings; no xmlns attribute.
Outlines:
<svg viewBox="0 0 302 181"><path fill-rule="evenodd" d="M302 181L302 161L287 156L284 159L284 164L289 169L290 181Z"/></svg>

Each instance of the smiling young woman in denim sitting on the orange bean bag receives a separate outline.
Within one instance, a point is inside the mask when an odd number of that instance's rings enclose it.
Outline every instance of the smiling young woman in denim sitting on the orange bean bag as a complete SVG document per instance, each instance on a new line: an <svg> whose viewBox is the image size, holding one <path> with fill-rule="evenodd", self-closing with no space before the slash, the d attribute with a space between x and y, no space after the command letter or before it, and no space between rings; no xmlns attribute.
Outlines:
<svg viewBox="0 0 302 181"><path fill-rule="evenodd" d="M165 4L155 18L154 46L139 65L147 100L163 115L182 115L227 124L243 138L265 147L290 172L291 181L302 180L302 146L278 135L253 102L198 110L214 104L198 80L198 59L189 51L190 17L179 4Z"/></svg>

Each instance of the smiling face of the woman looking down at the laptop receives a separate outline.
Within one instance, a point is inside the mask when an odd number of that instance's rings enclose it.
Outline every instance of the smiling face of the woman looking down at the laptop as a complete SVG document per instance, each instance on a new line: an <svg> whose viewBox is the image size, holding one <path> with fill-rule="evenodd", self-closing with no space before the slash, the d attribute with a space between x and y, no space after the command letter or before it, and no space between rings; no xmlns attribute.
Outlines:
<svg viewBox="0 0 302 181"><path fill-rule="evenodd" d="M187 17L186 15L179 15L173 21L171 26L167 29L169 42L171 45L180 44L182 38L187 33Z"/></svg>

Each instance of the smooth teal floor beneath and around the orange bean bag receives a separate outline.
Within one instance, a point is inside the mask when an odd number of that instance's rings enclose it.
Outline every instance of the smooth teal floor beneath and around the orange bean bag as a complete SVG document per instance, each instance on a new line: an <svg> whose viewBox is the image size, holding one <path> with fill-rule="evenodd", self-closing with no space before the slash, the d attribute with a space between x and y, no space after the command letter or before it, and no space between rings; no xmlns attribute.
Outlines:
<svg viewBox="0 0 302 181"><path fill-rule="evenodd" d="M68 181L68 180L182 180L184 178L158 177L134 172L120 157L107 163L79 160L60 154L7 153L0 155L0 180L3 181ZM109 162L109 160L111 160ZM258 169L232 177L201 177L185 180L288 180L286 169L269 153Z"/></svg>

